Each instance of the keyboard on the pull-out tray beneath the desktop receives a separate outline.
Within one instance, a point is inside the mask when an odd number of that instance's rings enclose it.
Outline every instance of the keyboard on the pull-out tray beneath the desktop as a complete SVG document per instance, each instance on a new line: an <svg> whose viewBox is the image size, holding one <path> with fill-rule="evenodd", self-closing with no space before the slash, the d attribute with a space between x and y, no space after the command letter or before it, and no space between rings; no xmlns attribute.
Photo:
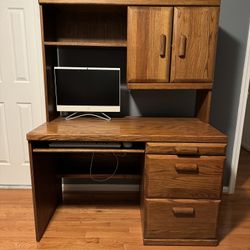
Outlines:
<svg viewBox="0 0 250 250"><path fill-rule="evenodd" d="M120 148L120 142L51 142L51 148Z"/></svg>

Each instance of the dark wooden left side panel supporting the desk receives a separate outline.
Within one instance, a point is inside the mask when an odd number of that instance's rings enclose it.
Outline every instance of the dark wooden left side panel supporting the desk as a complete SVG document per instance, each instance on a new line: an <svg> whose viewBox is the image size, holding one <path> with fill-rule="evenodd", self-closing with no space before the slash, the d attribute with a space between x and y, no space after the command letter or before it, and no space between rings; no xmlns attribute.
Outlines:
<svg viewBox="0 0 250 250"><path fill-rule="evenodd" d="M32 149L29 143L36 240L40 241L62 200L62 181L56 177L57 162L53 154L34 153Z"/></svg>

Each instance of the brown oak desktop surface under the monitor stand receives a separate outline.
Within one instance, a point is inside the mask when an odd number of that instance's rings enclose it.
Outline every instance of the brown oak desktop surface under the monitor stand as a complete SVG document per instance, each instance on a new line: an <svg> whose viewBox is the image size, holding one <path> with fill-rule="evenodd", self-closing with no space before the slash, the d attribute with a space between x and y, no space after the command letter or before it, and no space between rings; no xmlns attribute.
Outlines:
<svg viewBox="0 0 250 250"><path fill-rule="evenodd" d="M227 137L197 118L125 117L111 121L57 118L27 134L29 141L226 142Z"/></svg>

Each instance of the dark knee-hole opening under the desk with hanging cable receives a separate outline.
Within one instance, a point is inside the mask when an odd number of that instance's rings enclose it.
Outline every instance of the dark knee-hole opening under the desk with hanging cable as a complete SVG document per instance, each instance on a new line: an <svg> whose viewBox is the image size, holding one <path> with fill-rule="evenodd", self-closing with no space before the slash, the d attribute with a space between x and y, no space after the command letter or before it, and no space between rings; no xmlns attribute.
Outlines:
<svg viewBox="0 0 250 250"><path fill-rule="evenodd" d="M63 203L124 201L139 204L144 143L134 144L130 149L46 146L47 143L37 145L33 152L53 161L56 176L62 180Z"/></svg>

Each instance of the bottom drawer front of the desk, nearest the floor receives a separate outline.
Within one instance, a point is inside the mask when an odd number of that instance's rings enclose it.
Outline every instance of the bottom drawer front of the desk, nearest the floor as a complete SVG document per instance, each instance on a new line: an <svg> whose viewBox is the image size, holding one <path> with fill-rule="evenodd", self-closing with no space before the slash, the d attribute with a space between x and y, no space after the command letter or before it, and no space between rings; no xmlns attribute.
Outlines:
<svg viewBox="0 0 250 250"><path fill-rule="evenodd" d="M220 201L146 199L144 238L213 239Z"/></svg>

